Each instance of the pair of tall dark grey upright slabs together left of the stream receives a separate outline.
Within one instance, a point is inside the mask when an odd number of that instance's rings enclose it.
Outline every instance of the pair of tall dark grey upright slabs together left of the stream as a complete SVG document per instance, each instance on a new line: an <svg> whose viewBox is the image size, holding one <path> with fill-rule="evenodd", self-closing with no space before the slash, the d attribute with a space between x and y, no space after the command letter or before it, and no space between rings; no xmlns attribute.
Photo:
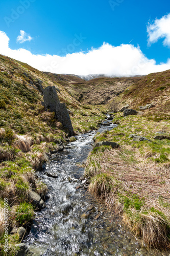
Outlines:
<svg viewBox="0 0 170 256"><path fill-rule="evenodd" d="M67 111L65 103L60 103L59 97L57 95L55 86L48 86L43 90L44 94L44 105L45 108L50 109L50 111L56 113L57 119L62 123L62 125L68 130L69 135L74 135L74 130L71 124L71 119Z"/></svg>

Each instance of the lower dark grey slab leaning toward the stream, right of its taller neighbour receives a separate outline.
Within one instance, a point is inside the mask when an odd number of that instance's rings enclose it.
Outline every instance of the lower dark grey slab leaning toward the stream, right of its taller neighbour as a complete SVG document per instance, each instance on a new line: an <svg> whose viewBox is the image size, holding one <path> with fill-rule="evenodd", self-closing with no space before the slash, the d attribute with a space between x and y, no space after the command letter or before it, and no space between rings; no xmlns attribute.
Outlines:
<svg viewBox="0 0 170 256"><path fill-rule="evenodd" d="M74 130L71 124L71 119L69 117L65 103L56 104L56 116L62 125L68 130L69 135L74 135Z"/></svg>

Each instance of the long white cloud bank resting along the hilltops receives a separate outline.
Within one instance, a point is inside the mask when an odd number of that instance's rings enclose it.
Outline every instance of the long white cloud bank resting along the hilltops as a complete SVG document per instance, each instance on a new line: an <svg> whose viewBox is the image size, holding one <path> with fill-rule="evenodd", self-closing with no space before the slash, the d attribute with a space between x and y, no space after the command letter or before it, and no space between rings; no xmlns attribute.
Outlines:
<svg viewBox="0 0 170 256"><path fill-rule="evenodd" d="M26 62L40 71L52 73L68 73L77 75L115 74L117 76L143 75L170 69L170 59L166 63L156 65L154 59L148 59L139 47L120 45L114 47L104 43L98 49L88 52L58 55L35 55L20 48L9 48L9 37L0 31L0 53Z"/></svg>

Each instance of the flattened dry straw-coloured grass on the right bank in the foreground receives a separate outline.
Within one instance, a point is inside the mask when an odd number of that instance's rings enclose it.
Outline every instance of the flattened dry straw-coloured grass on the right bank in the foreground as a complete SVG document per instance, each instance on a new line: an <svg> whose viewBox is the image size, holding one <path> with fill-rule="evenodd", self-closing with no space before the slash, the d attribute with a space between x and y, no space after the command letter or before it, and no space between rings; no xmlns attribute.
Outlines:
<svg viewBox="0 0 170 256"><path fill-rule="evenodd" d="M169 246L170 177L169 166L129 161L124 149L107 149L91 154L85 174L93 177L89 191L123 217L134 234L150 246ZM134 151L138 156L138 150ZM141 207L125 200L140 201ZM130 201L128 201L130 202Z"/></svg>

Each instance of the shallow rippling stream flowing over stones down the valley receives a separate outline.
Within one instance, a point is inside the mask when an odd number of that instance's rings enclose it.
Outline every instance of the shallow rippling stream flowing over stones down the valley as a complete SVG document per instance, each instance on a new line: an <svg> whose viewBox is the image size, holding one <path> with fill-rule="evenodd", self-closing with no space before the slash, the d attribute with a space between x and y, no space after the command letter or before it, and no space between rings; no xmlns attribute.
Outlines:
<svg viewBox="0 0 170 256"><path fill-rule="evenodd" d="M114 126L102 126L99 132ZM81 187L84 168L80 163L92 150L95 134L76 136L77 141L67 143L64 152L56 154L44 172L37 173L47 184L50 199L43 210L36 212L25 243L37 256L162 255L141 247L119 218ZM46 172L57 178L46 176Z"/></svg>

